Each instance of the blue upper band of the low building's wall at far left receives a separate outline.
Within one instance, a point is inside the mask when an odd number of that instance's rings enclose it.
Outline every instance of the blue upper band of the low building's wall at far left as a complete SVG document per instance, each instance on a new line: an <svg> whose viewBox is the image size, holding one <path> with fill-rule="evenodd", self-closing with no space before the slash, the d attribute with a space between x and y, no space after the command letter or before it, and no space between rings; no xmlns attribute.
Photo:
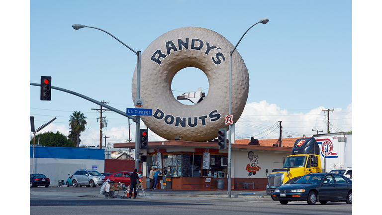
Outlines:
<svg viewBox="0 0 382 215"><path fill-rule="evenodd" d="M30 146L29 158L33 157L33 146ZM35 158L55 158L55 159L92 159L104 160L104 149L89 148L66 148L66 147L34 147Z"/></svg>

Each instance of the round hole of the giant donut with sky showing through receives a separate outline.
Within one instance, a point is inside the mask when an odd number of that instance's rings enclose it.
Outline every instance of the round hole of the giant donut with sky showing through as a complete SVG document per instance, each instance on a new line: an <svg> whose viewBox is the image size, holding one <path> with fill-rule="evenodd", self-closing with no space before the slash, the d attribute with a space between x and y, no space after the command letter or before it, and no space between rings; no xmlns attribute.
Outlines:
<svg viewBox="0 0 382 215"><path fill-rule="evenodd" d="M207 97L209 82L205 73L195 67L186 67L181 69L175 74L173 81L171 82L171 91L174 95L175 100L182 103L183 105L196 105L190 100L178 100L178 96L182 96L184 93L194 93L201 88L205 97ZM205 98L203 98L204 100ZM200 103L202 103L201 101Z"/></svg>

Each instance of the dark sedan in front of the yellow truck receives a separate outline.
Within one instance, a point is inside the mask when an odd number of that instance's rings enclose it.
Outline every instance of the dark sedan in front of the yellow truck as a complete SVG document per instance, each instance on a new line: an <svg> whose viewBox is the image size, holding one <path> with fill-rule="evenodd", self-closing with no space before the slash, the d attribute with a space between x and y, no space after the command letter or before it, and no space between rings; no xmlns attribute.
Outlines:
<svg viewBox="0 0 382 215"><path fill-rule="evenodd" d="M302 176L292 184L282 185L273 193L273 199L286 205L291 201L346 202L352 204L352 180L337 173L312 173Z"/></svg>

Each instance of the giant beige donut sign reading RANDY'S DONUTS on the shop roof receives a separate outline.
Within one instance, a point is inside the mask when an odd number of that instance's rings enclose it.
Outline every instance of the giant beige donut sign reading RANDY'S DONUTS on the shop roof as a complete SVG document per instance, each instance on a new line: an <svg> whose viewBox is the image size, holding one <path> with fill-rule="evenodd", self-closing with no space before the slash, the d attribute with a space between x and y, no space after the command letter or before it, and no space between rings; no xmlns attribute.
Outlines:
<svg viewBox="0 0 382 215"><path fill-rule="evenodd" d="M225 116L229 108L229 52L233 48L222 35L199 27L171 30L154 40L141 56L141 99L145 108L153 109L152 116L141 116L143 122L168 140L175 136L187 141L216 138L218 128L228 127ZM186 67L200 69L209 82L205 99L192 106L178 102L171 91L174 76ZM137 68L132 81L133 101L136 74ZM236 120L243 112L248 90L248 70L236 50L232 55L231 106Z"/></svg>

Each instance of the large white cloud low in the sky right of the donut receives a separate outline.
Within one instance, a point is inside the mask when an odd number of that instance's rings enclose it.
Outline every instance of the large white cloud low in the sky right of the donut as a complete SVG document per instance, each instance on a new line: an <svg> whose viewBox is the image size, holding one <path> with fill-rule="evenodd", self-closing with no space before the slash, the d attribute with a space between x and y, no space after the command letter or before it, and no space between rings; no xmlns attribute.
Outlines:
<svg viewBox="0 0 382 215"><path fill-rule="evenodd" d="M268 104L266 101L250 103L244 108L240 119L236 122L236 139L249 139L251 136L259 139L279 138L280 128L278 121L282 121L283 138L310 136L320 130L327 130L327 108L318 107L307 113L290 113L286 109ZM345 110L334 108L329 112L331 132L347 132L352 129L352 104Z"/></svg>

